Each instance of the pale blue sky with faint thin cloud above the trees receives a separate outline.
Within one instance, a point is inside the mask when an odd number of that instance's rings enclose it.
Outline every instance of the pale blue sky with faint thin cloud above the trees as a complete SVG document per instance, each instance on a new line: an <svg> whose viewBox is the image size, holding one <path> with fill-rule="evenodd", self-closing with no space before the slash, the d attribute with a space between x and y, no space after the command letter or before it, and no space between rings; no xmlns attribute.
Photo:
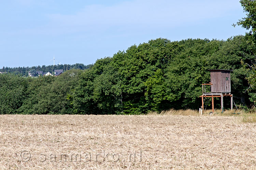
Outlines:
<svg viewBox="0 0 256 170"><path fill-rule="evenodd" d="M224 39L239 0L1 0L0 67L95 63L156 38Z"/></svg>

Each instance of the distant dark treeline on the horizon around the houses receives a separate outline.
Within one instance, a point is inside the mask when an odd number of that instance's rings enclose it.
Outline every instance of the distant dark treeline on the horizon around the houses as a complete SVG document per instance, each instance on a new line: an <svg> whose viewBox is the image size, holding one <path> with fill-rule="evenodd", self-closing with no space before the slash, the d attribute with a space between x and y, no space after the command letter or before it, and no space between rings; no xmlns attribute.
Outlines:
<svg viewBox="0 0 256 170"><path fill-rule="evenodd" d="M1 72L4 73L13 73L13 74L20 74L21 76L28 76L29 71L43 71L43 72L51 72L53 73L55 69L63 69L63 71L71 70L71 69L80 69L85 70L90 68L92 64L84 65L84 64L58 64L58 65L49 65L49 66L33 66L33 67L3 67L0 69Z"/></svg>

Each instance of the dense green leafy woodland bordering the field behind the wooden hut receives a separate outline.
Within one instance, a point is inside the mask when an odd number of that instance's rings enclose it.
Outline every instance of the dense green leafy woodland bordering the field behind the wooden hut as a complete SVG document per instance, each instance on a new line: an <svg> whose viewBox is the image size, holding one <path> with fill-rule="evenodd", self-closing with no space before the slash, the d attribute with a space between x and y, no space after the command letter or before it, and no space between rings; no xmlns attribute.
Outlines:
<svg viewBox="0 0 256 170"><path fill-rule="evenodd" d="M253 48L242 35L227 40L158 38L58 77L0 74L0 112L144 114L170 108L198 109L201 84L210 82L208 69L233 70L234 101L251 107L255 93L246 91L248 70L241 63L253 64ZM218 101L216 104L218 107Z"/></svg>

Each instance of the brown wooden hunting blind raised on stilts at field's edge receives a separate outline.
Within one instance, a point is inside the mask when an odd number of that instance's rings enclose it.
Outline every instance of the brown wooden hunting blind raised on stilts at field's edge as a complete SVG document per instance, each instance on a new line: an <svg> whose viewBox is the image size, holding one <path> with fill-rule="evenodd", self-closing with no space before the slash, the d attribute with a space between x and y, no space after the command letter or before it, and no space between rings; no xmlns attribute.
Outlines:
<svg viewBox="0 0 256 170"><path fill-rule="evenodd" d="M233 109L233 95L231 94L230 72L233 70L209 70L211 82L202 84L202 112L204 111L204 100L207 97L212 98L212 112L214 112L214 97L221 97L221 109L223 112L223 97L230 97L231 110ZM211 85L211 92L206 92L205 85ZM205 98L205 99L204 99Z"/></svg>

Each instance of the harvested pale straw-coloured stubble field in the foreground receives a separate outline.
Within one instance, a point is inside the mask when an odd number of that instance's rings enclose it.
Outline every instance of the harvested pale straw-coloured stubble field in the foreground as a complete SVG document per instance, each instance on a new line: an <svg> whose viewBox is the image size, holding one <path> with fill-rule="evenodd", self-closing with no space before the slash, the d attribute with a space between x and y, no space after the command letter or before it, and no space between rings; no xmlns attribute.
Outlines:
<svg viewBox="0 0 256 170"><path fill-rule="evenodd" d="M239 116L0 115L0 120L0 169L256 169L256 124Z"/></svg>

